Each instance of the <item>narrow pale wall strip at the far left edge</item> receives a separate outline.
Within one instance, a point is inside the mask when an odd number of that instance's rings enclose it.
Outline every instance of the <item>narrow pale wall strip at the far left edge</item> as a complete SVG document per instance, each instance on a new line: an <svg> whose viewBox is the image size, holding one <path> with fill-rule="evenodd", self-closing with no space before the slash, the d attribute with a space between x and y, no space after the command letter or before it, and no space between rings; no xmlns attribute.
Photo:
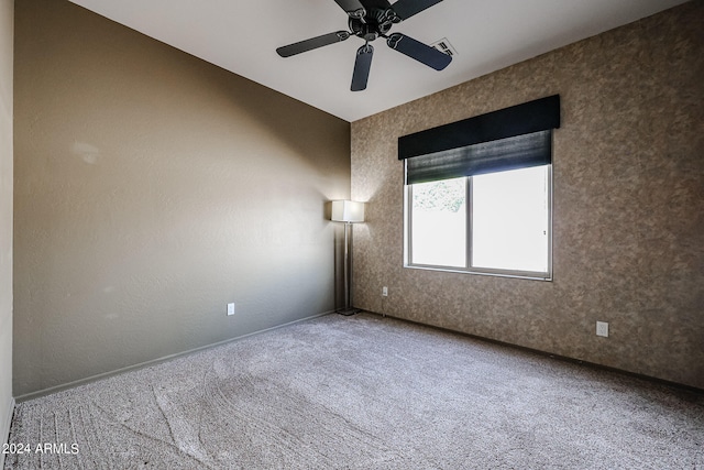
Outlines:
<svg viewBox="0 0 704 470"><path fill-rule="evenodd" d="M13 0L0 0L0 444L12 414L12 45ZM0 455L0 467L4 456Z"/></svg>

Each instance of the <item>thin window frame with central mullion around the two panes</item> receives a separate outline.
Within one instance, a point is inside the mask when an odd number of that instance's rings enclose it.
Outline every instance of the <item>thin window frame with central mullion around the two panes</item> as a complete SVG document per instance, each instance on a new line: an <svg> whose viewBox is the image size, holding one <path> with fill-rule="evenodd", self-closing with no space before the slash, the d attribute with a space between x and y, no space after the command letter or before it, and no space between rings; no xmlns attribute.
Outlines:
<svg viewBox="0 0 704 470"><path fill-rule="evenodd" d="M548 167L548 270L547 272L532 272L532 271L518 271L518 270L502 270L502 269L487 269L472 266L472 176L466 176L469 179L465 187L465 201L466 201L466 260L464 267L455 266L441 266L431 264L418 264L411 263L411 219L413 219L413 185L404 185L404 267L418 269L418 270L431 270L431 271L444 271L452 273L464 274L479 274L501 277L516 277L536 281L552 281L552 164L546 165ZM404 163L404 171L406 171L406 163Z"/></svg>

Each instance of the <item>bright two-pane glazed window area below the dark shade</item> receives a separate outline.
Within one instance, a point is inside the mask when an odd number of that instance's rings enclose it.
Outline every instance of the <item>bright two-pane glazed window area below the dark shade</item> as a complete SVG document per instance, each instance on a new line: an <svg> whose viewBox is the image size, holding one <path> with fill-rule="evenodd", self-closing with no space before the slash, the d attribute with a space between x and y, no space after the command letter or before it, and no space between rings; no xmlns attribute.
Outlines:
<svg viewBox="0 0 704 470"><path fill-rule="evenodd" d="M551 165L406 190L406 265L551 277Z"/></svg>

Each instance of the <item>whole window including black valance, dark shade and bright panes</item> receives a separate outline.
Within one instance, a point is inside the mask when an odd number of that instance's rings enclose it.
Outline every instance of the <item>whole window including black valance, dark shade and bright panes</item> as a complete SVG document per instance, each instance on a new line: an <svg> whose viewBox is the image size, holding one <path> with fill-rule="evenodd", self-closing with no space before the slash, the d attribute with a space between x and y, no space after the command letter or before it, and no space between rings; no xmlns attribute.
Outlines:
<svg viewBox="0 0 704 470"><path fill-rule="evenodd" d="M552 130L560 96L398 139L404 265L552 278Z"/></svg>

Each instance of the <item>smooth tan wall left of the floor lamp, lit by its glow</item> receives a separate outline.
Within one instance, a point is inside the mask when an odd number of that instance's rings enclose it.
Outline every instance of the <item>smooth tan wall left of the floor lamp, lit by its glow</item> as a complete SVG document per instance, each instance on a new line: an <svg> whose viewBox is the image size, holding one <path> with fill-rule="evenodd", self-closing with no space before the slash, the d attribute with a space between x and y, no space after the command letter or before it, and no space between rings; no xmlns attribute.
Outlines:
<svg viewBox="0 0 704 470"><path fill-rule="evenodd" d="M334 308L348 122L67 1L15 57L15 396Z"/></svg>

